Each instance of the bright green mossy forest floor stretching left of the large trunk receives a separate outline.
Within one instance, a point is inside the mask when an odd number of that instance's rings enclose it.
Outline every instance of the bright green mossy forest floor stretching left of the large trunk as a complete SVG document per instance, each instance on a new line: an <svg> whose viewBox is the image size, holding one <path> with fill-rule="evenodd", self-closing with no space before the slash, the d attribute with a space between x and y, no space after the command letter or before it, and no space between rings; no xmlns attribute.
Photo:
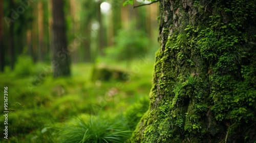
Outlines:
<svg viewBox="0 0 256 143"><path fill-rule="evenodd" d="M107 66L128 71L129 80L92 81L94 64L73 64L72 76L58 79L53 79L50 68L42 63L29 67L33 70L26 66L12 72L7 69L0 74L0 91L4 94L4 87L8 87L8 140L4 138L6 118L2 115L0 142L68 142L67 138L74 136L68 129L74 125L72 121L81 116L104 116L102 120L106 120L106 124L111 123L111 119L114 123L119 120L127 125L123 130L128 132L123 139L129 138L148 108L154 60L146 64L134 60L128 70L125 63ZM4 97L1 97L4 107ZM0 112L4 114L2 107ZM95 132L109 132L99 130ZM80 138L76 136L78 140L84 139L86 129L81 132Z"/></svg>

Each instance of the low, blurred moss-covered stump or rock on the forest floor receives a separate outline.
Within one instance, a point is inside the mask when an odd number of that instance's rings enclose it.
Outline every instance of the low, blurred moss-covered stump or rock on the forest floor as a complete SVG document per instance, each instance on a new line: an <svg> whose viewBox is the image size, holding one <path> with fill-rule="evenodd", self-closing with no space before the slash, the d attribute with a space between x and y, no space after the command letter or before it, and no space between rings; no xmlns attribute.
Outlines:
<svg viewBox="0 0 256 143"><path fill-rule="evenodd" d="M101 64L98 66L94 66L93 68L93 75L92 81L110 81L110 80L117 80L117 81L126 81L127 74L122 69L117 69L114 67L109 67L105 64Z"/></svg>

